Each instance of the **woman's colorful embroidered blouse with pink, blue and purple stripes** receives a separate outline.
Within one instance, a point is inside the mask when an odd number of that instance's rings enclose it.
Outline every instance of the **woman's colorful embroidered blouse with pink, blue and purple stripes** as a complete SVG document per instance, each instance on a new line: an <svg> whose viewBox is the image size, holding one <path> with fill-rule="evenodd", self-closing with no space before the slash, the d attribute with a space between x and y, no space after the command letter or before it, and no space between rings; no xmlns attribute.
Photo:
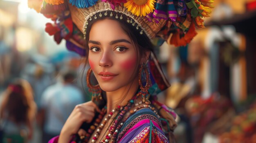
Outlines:
<svg viewBox="0 0 256 143"><path fill-rule="evenodd" d="M58 136L48 143L58 143ZM149 108L129 117L118 133L117 143L169 143L161 121Z"/></svg>

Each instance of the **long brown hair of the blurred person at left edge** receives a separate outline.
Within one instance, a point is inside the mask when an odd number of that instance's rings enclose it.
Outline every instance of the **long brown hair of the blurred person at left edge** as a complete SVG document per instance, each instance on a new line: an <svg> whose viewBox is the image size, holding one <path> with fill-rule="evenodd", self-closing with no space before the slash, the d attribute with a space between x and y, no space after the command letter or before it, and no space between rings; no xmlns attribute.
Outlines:
<svg viewBox="0 0 256 143"><path fill-rule="evenodd" d="M1 118L11 119L15 123L27 123L34 116L35 111L36 104L30 84L23 79L10 84L2 100Z"/></svg>

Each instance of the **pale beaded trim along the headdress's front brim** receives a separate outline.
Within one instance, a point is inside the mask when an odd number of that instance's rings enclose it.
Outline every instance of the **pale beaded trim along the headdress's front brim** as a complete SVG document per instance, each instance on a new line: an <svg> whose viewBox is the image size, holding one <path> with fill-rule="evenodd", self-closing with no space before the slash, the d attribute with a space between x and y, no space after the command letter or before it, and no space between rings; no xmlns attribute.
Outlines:
<svg viewBox="0 0 256 143"><path fill-rule="evenodd" d="M83 24L83 35L84 35L84 38L85 38L85 35L86 35L86 26L87 26L87 23L88 23L88 20L89 20L89 18L92 18L92 16L93 15L95 15L95 14L97 14L97 13L99 13L99 12L103 12L103 11L115 11L116 13L122 13L122 14L124 14L124 15L126 15L128 18L131 18L134 22L136 22L136 24L143 30L143 32L148 36L148 38L152 41L152 39L151 39L151 37L150 37L150 35L147 33L147 31L144 29L144 27L143 26L141 26L141 24L137 21L137 20L135 20L135 18L134 18L134 15L130 15L130 14L128 14L128 13L125 13L124 11L119 11L119 10L113 10L113 9L111 9L111 8L107 8L107 9L100 9L100 10L98 10L98 11L94 11L94 12L92 12L92 13L90 13L89 15L87 15L86 17L85 17L85 22L84 22L84 24ZM113 15L114 16L114 15ZM97 16L96 16L96 19L97 19ZM137 28L136 28L137 29Z"/></svg>

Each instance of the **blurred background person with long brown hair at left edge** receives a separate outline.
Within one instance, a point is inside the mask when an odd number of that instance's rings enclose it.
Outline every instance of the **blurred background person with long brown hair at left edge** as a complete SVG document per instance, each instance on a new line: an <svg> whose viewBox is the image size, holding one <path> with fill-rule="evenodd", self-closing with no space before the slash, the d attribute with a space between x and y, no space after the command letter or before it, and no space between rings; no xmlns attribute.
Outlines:
<svg viewBox="0 0 256 143"><path fill-rule="evenodd" d="M16 79L4 92L0 119L3 143L27 143L32 138L36 103L30 84Z"/></svg>

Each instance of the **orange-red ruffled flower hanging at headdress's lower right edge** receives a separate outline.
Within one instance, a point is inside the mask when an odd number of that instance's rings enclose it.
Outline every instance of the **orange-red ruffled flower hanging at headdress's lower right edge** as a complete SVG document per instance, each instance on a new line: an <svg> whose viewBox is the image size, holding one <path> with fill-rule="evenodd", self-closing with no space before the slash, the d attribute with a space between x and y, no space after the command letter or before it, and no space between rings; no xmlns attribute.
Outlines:
<svg viewBox="0 0 256 143"><path fill-rule="evenodd" d="M183 37L180 37L180 32L177 31L176 33L173 33L173 35L171 35L171 38L167 42L168 44L173 44L176 47L186 46L186 44L191 42L195 35L197 35L195 31L195 24L194 22L191 22L191 25L189 26L189 31L185 33Z"/></svg>

